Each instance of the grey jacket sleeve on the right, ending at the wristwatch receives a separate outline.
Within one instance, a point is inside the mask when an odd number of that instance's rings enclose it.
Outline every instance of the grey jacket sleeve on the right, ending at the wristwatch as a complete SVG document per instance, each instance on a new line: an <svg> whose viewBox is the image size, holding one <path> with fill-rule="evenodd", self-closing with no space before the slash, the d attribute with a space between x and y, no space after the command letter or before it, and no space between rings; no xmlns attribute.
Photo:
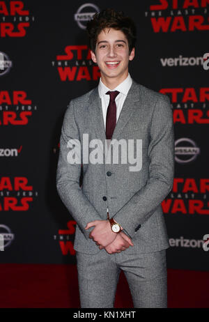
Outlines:
<svg viewBox="0 0 209 322"><path fill-rule="evenodd" d="M149 177L146 185L113 216L130 237L134 236L139 224L142 226L153 215L173 186L173 114L167 96L160 96L153 110L148 160Z"/></svg>

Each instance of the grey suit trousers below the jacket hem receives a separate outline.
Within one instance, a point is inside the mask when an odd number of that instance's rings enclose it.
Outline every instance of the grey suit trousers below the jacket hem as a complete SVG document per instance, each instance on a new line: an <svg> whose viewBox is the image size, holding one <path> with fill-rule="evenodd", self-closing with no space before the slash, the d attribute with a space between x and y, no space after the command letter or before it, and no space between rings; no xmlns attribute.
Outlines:
<svg viewBox="0 0 209 322"><path fill-rule="evenodd" d="M166 250L146 254L76 253L82 308L114 307L121 270L130 287L134 307L167 307Z"/></svg>

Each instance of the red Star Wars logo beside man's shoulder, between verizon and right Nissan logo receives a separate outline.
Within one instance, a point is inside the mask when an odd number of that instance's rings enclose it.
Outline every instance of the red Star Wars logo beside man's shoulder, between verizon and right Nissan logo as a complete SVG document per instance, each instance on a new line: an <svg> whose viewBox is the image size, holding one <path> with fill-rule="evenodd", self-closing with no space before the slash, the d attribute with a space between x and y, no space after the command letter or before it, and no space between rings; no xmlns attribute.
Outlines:
<svg viewBox="0 0 209 322"><path fill-rule="evenodd" d="M160 93L166 94L173 105L173 123L208 124L209 123L209 87L195 89L164 88Z"/></svg>

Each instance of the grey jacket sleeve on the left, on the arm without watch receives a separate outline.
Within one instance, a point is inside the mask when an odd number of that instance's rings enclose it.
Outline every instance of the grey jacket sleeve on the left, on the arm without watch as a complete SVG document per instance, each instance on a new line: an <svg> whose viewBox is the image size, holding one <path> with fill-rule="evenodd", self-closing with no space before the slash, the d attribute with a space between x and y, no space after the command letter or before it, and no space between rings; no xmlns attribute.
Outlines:
<svg viewBox="0 0 209 322"><path fill-rule="evenodd" d="M77 147L75 149L74 146L74 151L77 151L75 153L77 163L74 164L70 161L70 155L68 154L70 152L70 145L72 151L72 144L75 144ZM86 231L84 227L86 227L88 222L101 220L101 217L79 186L82 168L80 146L79 129L75 121L73 102L71 101L65 112L61 128L59 160L56 170L56 188L63 204L68 208L84 236L88 239L92 229Z"/></svg>

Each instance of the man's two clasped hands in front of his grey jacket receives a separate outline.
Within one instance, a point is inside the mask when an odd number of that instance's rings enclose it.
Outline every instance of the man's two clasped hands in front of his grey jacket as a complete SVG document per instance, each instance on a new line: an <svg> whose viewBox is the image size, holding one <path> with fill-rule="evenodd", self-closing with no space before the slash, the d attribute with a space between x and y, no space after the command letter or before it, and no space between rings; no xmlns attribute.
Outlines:
<svg viewBox="0 0 209 322"><path fill-rule="evenodd" d="M89 234L89 238L93 239L100 250L105 248L109 254L119 253L133 246L132 240L121 231L121 233L114 233L111 230L109 220L95 220L88 222L85 229L94 227Z"/></svg>

